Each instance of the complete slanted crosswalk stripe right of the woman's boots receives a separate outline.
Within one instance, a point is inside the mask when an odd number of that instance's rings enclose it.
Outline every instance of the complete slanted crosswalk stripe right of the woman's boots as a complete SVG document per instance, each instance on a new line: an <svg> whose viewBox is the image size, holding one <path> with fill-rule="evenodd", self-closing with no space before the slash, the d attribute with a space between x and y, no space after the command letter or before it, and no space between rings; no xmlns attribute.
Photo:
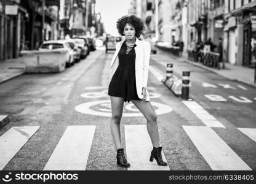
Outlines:
<svg viewBox="0 0 256 184"><path fill-rule="evenodd" d="M212 170L252 170L242 159L207 126L183 126Z"/></svg>

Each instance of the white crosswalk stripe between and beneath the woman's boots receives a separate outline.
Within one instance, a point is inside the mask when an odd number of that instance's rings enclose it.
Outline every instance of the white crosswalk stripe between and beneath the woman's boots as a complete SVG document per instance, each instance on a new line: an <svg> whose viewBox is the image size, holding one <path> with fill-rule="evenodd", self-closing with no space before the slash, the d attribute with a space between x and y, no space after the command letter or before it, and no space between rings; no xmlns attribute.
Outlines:
<svg viewBox="0 0 256 184"><path fill-rule="evenodd" d="M124 126L126 139L127 161L130 163L129 171L138 170L166 170L169 167L158 166L156 161L150 162L150 153L153 149L150 136L146 130L146 125L126 125ZM162 151L162 159L166 157Z"/></svg>

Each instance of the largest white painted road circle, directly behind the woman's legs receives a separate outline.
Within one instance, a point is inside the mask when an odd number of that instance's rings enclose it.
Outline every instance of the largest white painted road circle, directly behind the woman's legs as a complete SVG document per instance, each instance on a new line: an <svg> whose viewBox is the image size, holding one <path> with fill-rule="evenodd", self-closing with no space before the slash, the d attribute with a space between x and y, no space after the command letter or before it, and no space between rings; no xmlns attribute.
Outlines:
<svg viewBox="0 0 256 184"><path fill-rule="evenodd" d="M164 113L172 112L172 107L161 104L158 102L151 102L151 105L154 107L155 112L157 115L161 115ZM111 102L110 100L104 101L93 101L93 102L86 102L84 104L80 104L74 108L76 111L89 114L89 115L96 115L102 117L111 117ZM127 112L129 110L130 112ZM143 117L141 112L135 112L134 107L132 105L125 105L124 113L122 113L122 117Z"/></svg>

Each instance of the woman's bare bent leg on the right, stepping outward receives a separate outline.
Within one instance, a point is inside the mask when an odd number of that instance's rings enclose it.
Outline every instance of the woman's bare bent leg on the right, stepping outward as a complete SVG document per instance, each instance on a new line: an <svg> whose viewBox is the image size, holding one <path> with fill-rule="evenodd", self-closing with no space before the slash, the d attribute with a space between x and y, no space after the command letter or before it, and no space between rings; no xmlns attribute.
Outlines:
<svg viewBox="0 0 256 184"><path fill-rule="evenodd" d="M132 103L142 112L146 118L146 128L148 129L148 134L150 134L150 139L153 147L160 147L159 143L159 133L158 133L158 123L157 115L150 102L148 101L136 101L132 100Z"/></svg>

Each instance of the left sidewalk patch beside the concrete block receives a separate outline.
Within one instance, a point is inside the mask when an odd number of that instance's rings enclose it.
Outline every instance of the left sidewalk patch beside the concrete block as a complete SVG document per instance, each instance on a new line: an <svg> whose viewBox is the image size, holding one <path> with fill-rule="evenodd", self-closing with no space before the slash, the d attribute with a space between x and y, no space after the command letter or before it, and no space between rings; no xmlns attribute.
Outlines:
<svg viewBox="0 0 256 184"><path fill-rule="evenodd" d="M0 83L25 73L23 58L12 58L0 61Z"/></svg>

